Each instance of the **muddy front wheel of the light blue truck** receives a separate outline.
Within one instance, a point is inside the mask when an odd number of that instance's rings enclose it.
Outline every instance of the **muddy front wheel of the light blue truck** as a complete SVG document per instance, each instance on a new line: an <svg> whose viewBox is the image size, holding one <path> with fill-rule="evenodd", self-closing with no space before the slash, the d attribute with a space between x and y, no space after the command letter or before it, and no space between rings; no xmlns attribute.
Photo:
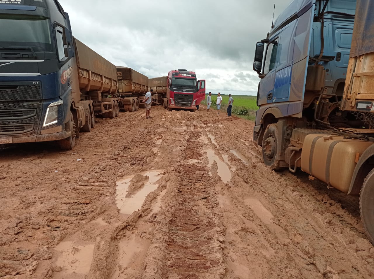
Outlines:
<svg viewBox="0 0 374 279"><path fill-rule="evenodd" d="M270 124L267 126L262 140L262 157L264 163L270 166L272 170L280 170L279 159L277 155L278 150L278 126Z"/></svg>

